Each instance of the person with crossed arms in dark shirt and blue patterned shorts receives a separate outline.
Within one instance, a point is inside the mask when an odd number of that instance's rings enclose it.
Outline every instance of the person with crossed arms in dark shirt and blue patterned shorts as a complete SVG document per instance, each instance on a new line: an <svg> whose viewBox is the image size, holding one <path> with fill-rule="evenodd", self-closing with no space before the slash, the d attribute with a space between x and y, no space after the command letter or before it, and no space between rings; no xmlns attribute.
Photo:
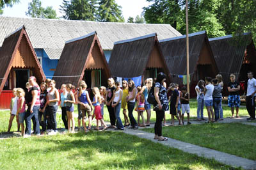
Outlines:
<svg viewBox="0 0 256 170"><path fill-rule="evenodd" d="M240 118L238 116L240 107L240 96L239 96L240 85L236 81L236 75L230 74L230 82L228 82L228 107L231 108L232 116L230 118ZM236 107L236 117L234 117L234 107Z"/></svg>

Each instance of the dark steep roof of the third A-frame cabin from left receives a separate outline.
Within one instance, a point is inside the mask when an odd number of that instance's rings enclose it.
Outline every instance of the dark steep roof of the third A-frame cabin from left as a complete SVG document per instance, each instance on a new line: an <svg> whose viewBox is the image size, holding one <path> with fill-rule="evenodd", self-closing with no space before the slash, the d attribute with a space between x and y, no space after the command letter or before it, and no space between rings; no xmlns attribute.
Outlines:
<svg viewBox="0 0 256 170"><path fill-rule="evenodd" d="M114 77L138 77L147 68L163 68L169 74L156 33L115 42L108 64Z"/></svg>

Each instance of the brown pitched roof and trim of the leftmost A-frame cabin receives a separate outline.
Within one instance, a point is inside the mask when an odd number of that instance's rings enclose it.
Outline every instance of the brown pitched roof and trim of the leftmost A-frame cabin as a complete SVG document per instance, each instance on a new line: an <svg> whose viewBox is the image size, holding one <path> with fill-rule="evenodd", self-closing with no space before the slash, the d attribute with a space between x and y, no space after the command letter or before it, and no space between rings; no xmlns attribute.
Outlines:
<svg viewBox="0 0 256 170"><path fill-rule="evenodd" d="M40 78L41 81L45 79L44 71L38 61L38 58L36 57L36 52L31 45L25 26L22 26L4 38L3 45L0 49L0 63L2 63L0 67L0 93L4 87L6 80L8 79L8 75L13 65L13 60L15 58L22 58L22 56L16 55L17 52L19 52L18 49L20 46L20 42L26 42L27 45L29 46L29 52L31 52L31 56L33 56L34 59L32 61L36 62L36 70L38 70L35 76L37 78ZM24 62L24 59L22 59L22 61L20 62ZM26 66L26 63L22 64Z"/></svg>

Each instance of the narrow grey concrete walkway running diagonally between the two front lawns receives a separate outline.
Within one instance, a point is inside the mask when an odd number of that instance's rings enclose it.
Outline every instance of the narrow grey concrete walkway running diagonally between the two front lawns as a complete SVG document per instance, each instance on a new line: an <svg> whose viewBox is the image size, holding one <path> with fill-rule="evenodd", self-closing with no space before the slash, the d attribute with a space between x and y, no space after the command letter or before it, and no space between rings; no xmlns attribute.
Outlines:
<svg viewBox="0 0 256 170"><path fill-rule="evenodd" d="M187 153L196 154L199 157L205 157L210 159L214 158L218 162L227 164L228 166L242 167L243 169L256 169L256 161L249 160L247 158L237 157L235 155L230 155L228 153L223 153L221 151L211 150L209 148L203 148L201 146L196 146L195 144L184 143L182 141L178 141L171 138L168 138L168 141L157 141L153 139L154 134L144 132L141 130L125 129L124 133L129 135L136 135L140 138L148 139L154 143L161 143L164 144L165 146L177 148Z"/></svg>

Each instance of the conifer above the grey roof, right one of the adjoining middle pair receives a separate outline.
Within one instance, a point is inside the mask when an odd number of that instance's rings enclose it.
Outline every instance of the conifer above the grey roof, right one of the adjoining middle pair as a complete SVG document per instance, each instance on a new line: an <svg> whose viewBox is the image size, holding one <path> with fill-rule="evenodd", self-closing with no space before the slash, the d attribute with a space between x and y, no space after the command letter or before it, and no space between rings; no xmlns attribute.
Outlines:
<svg viewBox="0 0 256 170"><path fill-rule="evenodd" d="M99 21L104 22L124 22L121 6L116 4L115 0L99 1Z"/></svg>

